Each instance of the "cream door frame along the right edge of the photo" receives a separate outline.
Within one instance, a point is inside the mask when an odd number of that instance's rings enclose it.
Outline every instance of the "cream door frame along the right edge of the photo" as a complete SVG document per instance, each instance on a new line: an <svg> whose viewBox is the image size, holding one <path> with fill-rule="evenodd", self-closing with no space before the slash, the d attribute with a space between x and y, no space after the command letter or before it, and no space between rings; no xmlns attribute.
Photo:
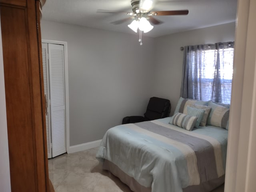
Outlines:
<svg viewBox="0 0 256 192"><path fill-rule="evenodd" d="M255 191L256 1L238 0L225 192Z"/></svg>

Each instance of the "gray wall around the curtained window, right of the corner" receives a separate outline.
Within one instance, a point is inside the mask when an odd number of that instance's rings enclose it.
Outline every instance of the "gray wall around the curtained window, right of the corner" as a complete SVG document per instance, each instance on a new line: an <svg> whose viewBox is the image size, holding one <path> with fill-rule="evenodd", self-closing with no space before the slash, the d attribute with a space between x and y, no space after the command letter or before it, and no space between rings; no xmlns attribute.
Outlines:
<svg viewBox="0 0 256 192"><path fill-rule="evenodd" d="M154 95L171 101L173 114L182 79L181 46L234 41L235 22L155 38L156 70Z"/></svg>

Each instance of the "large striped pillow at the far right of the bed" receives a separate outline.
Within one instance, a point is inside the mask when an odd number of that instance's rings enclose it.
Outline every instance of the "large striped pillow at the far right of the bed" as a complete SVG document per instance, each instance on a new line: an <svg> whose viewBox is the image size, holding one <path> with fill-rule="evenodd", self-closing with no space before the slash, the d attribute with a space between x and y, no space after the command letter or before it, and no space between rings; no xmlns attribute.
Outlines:
<svg viewBox="0 0 256 192"><path fill-rule="evenodd" d="M208 106L212 110L208 116L207 124L226 129L228 126L229 109L212 101L208 102Z"/></svg>

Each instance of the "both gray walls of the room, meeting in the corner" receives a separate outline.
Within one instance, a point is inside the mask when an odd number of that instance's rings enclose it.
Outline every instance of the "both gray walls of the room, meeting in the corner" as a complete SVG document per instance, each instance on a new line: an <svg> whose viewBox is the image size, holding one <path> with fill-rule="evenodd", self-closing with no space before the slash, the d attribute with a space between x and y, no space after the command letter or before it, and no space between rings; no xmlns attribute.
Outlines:
<svg viewBox="0 0 256 192"><path fill-rule="evenodd" d="M181 46L234 41L235 23L159 38L42 21L42 38L68 42L70 146L103 137L124 116L143 115L148 98L180 97Z"/></svg>

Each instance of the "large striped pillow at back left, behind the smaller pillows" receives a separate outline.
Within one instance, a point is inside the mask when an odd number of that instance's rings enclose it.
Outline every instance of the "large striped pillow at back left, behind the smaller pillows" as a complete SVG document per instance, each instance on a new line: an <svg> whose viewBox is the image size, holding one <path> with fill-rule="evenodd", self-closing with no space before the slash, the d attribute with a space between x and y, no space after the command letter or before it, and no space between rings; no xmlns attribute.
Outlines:
<svg viewBox="0 0 256 192"><path fill-rule="evenodd" d="M192 104L198 104L198 105L208 105L208 101L199 101L194 99L184 99L180 97L178 104L175 108L174 114L176 113L184 113L187 114L187 106L191 106Z"/></svg>

